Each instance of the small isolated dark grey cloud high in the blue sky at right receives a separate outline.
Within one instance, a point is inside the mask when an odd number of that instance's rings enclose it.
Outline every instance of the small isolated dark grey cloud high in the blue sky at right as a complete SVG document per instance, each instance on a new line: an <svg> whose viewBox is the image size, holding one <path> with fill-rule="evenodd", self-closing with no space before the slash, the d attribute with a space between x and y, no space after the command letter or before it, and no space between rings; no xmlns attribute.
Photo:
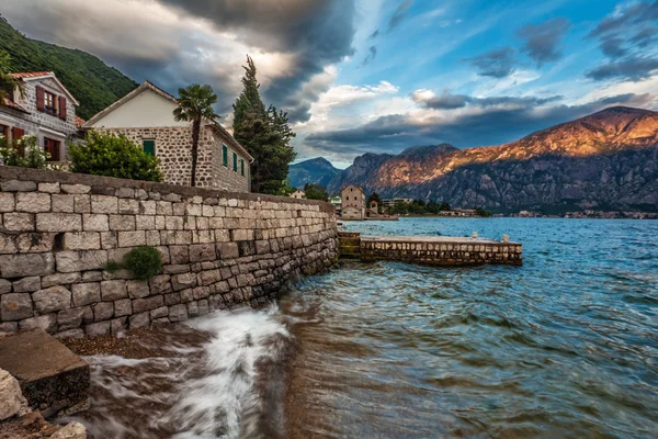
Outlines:
<svg viewBox="0 0 658 439"><path fill-rule="evenodd" d="M565 19L552 19L542 24L529 24L522 27L518 36L525 41L522 52L542 66L559 59L561 53L558 45L569 30L570 24Z"/></svg>

